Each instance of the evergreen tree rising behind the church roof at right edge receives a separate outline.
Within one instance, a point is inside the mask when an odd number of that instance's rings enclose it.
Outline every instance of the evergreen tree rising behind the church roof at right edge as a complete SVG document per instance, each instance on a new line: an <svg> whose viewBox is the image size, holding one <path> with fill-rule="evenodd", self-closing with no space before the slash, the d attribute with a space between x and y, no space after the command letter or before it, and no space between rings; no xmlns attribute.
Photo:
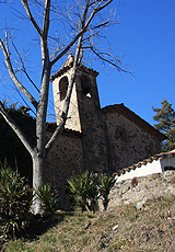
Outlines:
<svg viewBox="0 0 175 252"><path fill-rule="evenodd" d="M152 107L156 113L156 115L153 116L153 119L158 122L158 124L154 124L155 128L167 137L162 144L162 150L168 151L175 149L175 111L173 110L172 104L165 99L163 99L161 104L161 108Z"/></svg>

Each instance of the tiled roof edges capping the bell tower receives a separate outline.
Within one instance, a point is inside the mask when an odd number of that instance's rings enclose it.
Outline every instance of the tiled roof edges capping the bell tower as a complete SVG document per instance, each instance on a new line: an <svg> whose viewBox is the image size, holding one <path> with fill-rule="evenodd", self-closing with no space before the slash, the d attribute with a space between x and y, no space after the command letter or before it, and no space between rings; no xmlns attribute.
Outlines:
<svg viewBox="0 0 175 252"><path fill-rule="evenodd" d="M60 77L62 76L65 72L67 72L69 69L71 69L73 67L73 60L74 60L74 57L73 56L69 56L67 61L62 65L62 67L59 69L59 71L57 71L55 75L51 76L50 78L50 81L54 81L57 77ZM79 65L78 68L81 70L81 71L84 71L84 72L88 72L88 73L91 73L95 77L98 76L98 72L91 69L91 68L88 68L85 67L84 65Z"/></svg>

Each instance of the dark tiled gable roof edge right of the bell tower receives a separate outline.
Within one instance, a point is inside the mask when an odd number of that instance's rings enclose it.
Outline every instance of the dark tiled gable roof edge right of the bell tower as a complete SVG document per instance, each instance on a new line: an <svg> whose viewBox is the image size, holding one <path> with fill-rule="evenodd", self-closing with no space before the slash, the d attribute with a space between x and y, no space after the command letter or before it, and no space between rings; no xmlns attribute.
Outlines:
<svg viewBox="0 0 175 252"><path fill-rule="evenodd" d="M124 105L124 103L105 106L102 108L102 112L104 114L118 113L118 114L125 116L127 119L131 121L139 128L143 129L144 131L147 131L148 134L153 136L159 141L163 141L166 139L165 135L160 133L158 129L155 129L153 126L151 126L144 119L142 119L140 116L138 116L132 111L130 111L128 107L126 107Z"/></svg>

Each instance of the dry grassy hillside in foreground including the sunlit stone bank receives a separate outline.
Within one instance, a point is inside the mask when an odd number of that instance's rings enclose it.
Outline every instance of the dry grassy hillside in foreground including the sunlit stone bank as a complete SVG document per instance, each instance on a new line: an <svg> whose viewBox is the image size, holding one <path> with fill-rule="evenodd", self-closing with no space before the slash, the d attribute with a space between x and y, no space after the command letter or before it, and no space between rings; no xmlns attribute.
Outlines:
<svg viewBox="0 0 175 252"><path fill-rule="evenodd" d="M174 171L121 182L110 194L107 213L57 211L47 230L37 227L40 236L9 241L2 251L173 252L174 192Z"/></svg>

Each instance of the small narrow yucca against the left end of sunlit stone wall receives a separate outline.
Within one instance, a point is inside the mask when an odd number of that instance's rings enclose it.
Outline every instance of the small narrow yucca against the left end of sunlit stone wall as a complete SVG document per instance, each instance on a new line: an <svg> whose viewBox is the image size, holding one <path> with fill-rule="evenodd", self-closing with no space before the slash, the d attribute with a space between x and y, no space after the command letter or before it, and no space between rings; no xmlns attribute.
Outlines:
<svg viewBox="0 0 175 252"><path fill-rule="evenodd" d="M107 205L108 205L108 195L109 192L112 190L112 187L114 186L116 180L113 176L107 175L106 173L101 173L98 175L98 180L100 180L100 185L98 185L98 192L101 194L101 196L103 197L103 206L104 206L104 210L107 209Z"/></svg>

